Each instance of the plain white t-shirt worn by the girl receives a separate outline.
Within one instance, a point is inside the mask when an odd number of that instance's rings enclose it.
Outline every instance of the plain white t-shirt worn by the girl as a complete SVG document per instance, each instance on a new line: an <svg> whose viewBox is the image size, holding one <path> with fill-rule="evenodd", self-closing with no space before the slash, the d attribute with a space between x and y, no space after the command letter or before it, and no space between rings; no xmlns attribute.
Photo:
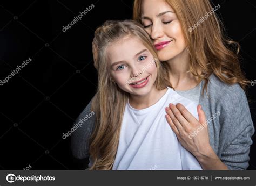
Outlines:
<svg viewBox="0 0 256 186"><path fill-rule="evenodd" d="M149 108L126 104L113 170L201 170L165 119L169 103L183 104L198 119L197 104L168 88Z"/></svg>

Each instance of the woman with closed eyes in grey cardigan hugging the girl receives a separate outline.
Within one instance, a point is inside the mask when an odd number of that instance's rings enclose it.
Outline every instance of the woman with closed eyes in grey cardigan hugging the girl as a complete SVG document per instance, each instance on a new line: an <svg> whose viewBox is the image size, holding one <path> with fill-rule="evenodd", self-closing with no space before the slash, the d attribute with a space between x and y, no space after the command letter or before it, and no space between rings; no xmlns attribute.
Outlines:
<svg viewBox="0 0 256 186"><path fill-rule="evenodd" d="M247 81L237 55L227 48L235 43L224 38L214 10L208 0L140 0L134 1L133 18L143 24L159 60L169 68L172 87L200 104L199 121L181 104L166 108L166 119L181 145L204 170L243 170L248 167L254 133L243 90ZM88 112L90 103L78 119ZM88 155L94 126L94 118L90 119L73 135L77 158ZM206 121L208 125L201 127Z"/></svg>

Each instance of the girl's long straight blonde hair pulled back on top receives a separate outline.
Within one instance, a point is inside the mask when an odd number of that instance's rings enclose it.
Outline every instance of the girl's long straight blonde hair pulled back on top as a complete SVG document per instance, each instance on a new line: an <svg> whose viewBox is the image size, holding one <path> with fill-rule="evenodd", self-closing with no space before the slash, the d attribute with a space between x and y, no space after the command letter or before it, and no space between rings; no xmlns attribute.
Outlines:
<svg viewBox="0 0 256 186"><path fill-rule="evenodd" d="M93 98L91 110L96 112L96 126L90 138L90 155L93 161L90 169L110 170L117 153L120 128L125 104L129 94L111 81L107 70L106 48L126 37L136 37L149 49L157 67L157 78L154 85L158 90L170 86L167 72L158 60L149 35L134 20L107 20L95 31L92 42L94 66L98 71L98 88Z"/></svg>

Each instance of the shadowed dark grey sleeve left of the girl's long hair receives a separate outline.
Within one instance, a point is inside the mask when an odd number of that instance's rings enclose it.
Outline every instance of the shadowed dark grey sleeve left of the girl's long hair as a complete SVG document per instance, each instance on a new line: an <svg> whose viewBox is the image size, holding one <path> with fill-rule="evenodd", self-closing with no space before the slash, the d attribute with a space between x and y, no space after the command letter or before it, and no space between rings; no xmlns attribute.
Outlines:
<svg viewBox="0 0 256 186"><path fill-rule="evenodd" d="M84 159L89 156L89 139L95 127L95 112L91 111L91 102L78 116L73 125L77 126L75 132L71 134L71 151L77 159Z"/></svg>

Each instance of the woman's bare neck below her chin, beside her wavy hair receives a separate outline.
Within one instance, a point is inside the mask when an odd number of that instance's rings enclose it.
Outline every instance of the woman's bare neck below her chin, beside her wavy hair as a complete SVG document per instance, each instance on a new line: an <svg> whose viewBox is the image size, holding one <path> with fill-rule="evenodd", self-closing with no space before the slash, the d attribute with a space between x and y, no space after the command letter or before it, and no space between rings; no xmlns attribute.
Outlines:
<svg viewBox="0 0 256 186"><path fill-rule="evenodd" d="M190 61L186 49L166 62L169 65L169 81L174 89L180 91L190 90L199 83L198 78L188 72L190 70Z"/></svg>

